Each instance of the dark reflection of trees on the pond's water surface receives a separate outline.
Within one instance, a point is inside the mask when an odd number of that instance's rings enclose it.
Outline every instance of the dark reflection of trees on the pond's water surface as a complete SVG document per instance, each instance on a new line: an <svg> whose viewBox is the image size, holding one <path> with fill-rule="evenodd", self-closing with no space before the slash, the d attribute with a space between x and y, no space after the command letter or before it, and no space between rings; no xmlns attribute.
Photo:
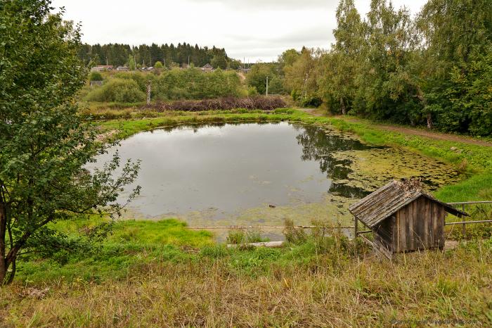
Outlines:
<svg viewBox="0 0 492 328"><path fill-rule="evenodd" d="M318 127L304 125L302 129L295 126L300 134L296 137L297 143L302 146L302 160L316 160L319 163L321 172L324 172L328 179L336 181L347 179L350 172L351 160L337 160L332 156L337 151L363 150L370 149L358 140L344 139L343 137L326 134ZM362 198L368 194L361 188L350 187L346 184L332 182L328 190L333 194L340 194L351 198Z"/></svg>

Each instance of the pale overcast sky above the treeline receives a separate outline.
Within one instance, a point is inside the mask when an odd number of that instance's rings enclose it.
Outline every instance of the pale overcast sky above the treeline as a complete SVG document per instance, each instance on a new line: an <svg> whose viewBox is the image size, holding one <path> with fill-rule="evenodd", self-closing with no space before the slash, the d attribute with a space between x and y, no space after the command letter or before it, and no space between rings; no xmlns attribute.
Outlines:
<svg viewBox="0 0 492 328"><path fill-rule="evenodd" d="M427 0L394 0L415 14ZM65 19L82 22L83 42L190 43L228 56L272 61L286 49L328 49L338 0L54 0ZM359 13L370 0L356 0Z"/></svg>

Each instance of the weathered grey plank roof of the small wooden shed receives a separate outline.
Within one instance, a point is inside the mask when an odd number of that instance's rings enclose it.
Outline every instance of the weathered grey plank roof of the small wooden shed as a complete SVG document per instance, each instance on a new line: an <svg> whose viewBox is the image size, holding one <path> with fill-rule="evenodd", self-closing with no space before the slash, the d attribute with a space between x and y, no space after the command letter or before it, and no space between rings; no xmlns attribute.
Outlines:
<svg viewBox="0 0 492 328"><path fill-rule="evenodd" d="M382 220L396 213L399 209L412 203L420 196L427 197L431 201L439 203L448 213L457 216L468 216L467 213L438 201L436 198L423 191L422 188L412 184L411 180L394 180L389 182L386 186L374 191L373 194L370 194L351 205L349 211L355 215L358 220L361 220L365 225L372 228Z"/></svg>

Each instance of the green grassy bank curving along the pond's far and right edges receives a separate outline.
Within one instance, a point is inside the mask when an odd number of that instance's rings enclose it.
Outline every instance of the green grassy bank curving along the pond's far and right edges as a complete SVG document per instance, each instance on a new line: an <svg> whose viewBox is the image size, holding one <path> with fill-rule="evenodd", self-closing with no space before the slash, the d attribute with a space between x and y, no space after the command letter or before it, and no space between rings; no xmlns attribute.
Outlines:
<svg viewBox="0 0 492 328"><path fill-rule="evenodd" d="M398 146L425 156L438 158L455 165L463 173L463 180L441 188L436 196L442 201L481 201L492 199L492 147L465 142L435 140L427 137L382 130L369 121L351 122L343 118L316 117L291 108L273 113L248 111L210 111L205 113L177 113L157 118L108 120L98 122L103 131L119 130L119 137L158 127L238 122L304 122L357 134L362 141L379 146Z"/></svg>

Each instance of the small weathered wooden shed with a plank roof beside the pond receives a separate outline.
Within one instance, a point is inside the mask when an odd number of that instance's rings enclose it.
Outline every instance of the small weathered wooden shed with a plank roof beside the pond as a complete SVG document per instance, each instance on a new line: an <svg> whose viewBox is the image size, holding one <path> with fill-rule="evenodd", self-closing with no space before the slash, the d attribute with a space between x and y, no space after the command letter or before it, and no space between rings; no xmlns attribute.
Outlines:
<svg viewBox="0 0 492 328"><path fill-rule="evenodd" d="M414 180L393 181L349 207L374 234L373 246L391 258L394 253L444 248L446 213L467 213L438 201Z"/></svg>

